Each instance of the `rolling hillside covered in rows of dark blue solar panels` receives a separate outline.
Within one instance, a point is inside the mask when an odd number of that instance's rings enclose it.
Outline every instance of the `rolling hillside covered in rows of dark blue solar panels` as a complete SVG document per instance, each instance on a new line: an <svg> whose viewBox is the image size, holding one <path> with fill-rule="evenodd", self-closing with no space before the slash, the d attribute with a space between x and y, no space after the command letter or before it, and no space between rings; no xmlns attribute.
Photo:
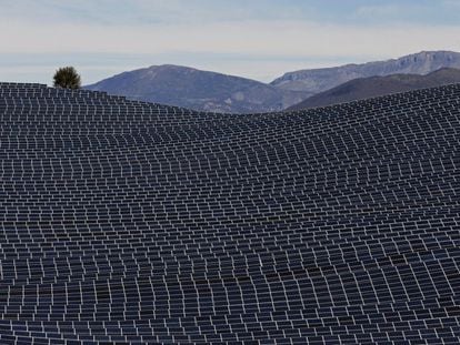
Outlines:
<svg viewBox="0 0 460 345"><path fill-rule="evenodd" d="M460 85L223 115L0 84L1 344L458 344Z"/></svg>

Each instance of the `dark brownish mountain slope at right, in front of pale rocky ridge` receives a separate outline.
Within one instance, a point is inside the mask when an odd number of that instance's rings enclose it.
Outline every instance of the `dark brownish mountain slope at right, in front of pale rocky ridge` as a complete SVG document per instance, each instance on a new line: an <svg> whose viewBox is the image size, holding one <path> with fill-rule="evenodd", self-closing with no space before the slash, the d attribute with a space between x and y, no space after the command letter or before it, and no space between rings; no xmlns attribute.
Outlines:
<svg viewBox="0 0 460 345"><path fill-rule="evenodd" d="M289 110L350 102L396 92L440 87L460 82L460 70L441 69L427 75L393 74L387 77L360 78L348 81L331 90L318 93Z"/></svg>

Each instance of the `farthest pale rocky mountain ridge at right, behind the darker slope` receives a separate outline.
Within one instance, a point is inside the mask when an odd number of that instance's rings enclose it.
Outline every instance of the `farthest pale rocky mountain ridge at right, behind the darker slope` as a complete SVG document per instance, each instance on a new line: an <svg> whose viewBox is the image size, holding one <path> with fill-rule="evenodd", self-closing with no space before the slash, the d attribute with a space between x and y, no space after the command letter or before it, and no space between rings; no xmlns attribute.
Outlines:
<svg viewBox="0 0 460 345"><path fill-rule="evenodd" d="M423 51L387 61L289 72L271 82L282 90L319 93L357 78L390 74L427 74L441 68L460 69L460 53Z"/></svg>

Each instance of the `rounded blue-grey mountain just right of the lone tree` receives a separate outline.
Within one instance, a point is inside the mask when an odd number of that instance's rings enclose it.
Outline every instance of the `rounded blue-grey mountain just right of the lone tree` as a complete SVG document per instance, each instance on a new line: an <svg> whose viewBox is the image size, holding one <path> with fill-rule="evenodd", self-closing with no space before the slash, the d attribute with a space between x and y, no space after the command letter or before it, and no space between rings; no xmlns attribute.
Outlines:
<svg viewBox="0 0 460 345"><path fill-rule="evenodd" d="M311 95L171 64L124 72L86 89L194 110L236 113L279 111Z"/></svg>

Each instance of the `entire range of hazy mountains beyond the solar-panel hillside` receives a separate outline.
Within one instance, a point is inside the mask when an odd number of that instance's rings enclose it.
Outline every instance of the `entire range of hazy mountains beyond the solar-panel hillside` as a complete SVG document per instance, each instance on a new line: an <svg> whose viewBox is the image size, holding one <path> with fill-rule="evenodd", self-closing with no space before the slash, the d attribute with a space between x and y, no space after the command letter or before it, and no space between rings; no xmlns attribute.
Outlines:
<svg viewBox="0 0 460 345"><path fill-rule="evenodd" d="M432 73L440 69L444 70ZM453 69L460 69L460 53L423 51L387 61L288 72L267 84L164 64L123 72L86 89L196 110L253 113L328 105L460 82L460 71Z"/></svg>

